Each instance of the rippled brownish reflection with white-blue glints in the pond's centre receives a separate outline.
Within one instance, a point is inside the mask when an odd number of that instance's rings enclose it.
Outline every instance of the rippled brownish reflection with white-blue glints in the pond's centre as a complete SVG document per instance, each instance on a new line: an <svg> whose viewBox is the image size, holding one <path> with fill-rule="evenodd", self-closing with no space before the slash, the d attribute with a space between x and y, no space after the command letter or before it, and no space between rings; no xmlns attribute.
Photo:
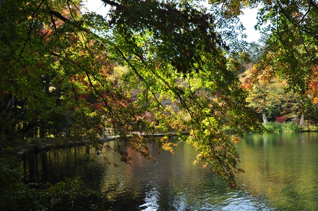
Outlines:
<svg viewBox="0 0 318 211"><path fill-rule="evenodd" d="M226 194L232 190L225 187L223 180L193 165L197 152L191 145L180 143L174 148L175 154L168 151L158 154L156 144L150 144L149 149L156 158L155 163L128 148L129 156L133 157L131 165L104 169L101 190L105 201L127 204L125 201L133 198L142 208L159 206L162 210L182 210L200 208L200 203L207 199L209 205L206 206L222 206L224 200L232 197ZM109 153L107 156L112 159ZM202 187L206 191L202 192ZM221 194L216 197L216 193Z"/></svg>

